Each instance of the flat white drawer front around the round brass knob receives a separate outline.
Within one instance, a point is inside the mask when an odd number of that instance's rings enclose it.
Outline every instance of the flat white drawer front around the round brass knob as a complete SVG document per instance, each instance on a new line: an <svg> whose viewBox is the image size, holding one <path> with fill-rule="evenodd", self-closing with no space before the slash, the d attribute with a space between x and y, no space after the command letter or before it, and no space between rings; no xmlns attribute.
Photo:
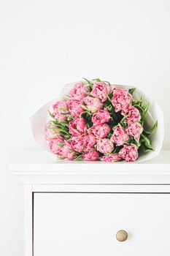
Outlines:
<svg viewBox="0 0 170 256"><path fill-rule="evenodd" d="M34 256L169 256L169 217L168 193L36 192Z"/></svg>

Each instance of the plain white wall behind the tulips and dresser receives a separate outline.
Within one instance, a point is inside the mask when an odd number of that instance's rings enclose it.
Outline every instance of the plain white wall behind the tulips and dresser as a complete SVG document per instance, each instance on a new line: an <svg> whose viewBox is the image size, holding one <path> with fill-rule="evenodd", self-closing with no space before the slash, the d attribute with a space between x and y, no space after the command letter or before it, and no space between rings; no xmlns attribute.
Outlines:
<svg viewBox="0 0 170 256"><path fill-rule="evenodd" d="M63 84L141 87L163 108L170 149L170 1L0 0L0 26L0 255L23 256L23 185L6 149L34 147L28 117Z"/></svg>

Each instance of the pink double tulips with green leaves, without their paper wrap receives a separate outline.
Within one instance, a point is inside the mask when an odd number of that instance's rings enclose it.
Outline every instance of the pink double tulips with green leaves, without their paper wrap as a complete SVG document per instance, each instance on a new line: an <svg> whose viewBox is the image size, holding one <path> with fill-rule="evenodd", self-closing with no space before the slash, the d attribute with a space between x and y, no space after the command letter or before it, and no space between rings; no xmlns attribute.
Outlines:
<svg viewBox="0 0 170 256"><path fill-rule="evenodd" d="M59 159L104 162L134 162L154 151L150 136L158 121L153 123L150 102L137 99L135 90L100 79L74 83L49 110L45 139L50 151Z"/></svg>

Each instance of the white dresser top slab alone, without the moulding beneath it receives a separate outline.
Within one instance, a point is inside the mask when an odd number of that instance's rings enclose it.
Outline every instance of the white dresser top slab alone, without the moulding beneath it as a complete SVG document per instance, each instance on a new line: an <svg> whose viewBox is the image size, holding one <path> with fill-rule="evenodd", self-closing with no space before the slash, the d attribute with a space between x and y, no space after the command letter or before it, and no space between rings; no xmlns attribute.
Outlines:
<svg viewBox="0 0 170 256"><path fill-rule="evenodd" d="M58 160L54 154L41 149L13 151L9 156L9 170L13 174L21 173L170 173L170 151L161 154L147 162L86 162Z"/></svg>

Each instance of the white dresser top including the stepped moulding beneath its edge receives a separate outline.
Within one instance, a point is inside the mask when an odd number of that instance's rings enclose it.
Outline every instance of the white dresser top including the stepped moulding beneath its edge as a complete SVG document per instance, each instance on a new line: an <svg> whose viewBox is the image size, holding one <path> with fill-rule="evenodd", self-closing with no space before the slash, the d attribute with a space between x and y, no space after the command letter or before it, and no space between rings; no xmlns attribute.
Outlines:
<svg viewBox="0 0 170 256"><path fill-rule="evenodd" d="M10 154L9 170L32 183L170 184L170 151L128 163L57 160L47 151L28 149Z"/></svg>

